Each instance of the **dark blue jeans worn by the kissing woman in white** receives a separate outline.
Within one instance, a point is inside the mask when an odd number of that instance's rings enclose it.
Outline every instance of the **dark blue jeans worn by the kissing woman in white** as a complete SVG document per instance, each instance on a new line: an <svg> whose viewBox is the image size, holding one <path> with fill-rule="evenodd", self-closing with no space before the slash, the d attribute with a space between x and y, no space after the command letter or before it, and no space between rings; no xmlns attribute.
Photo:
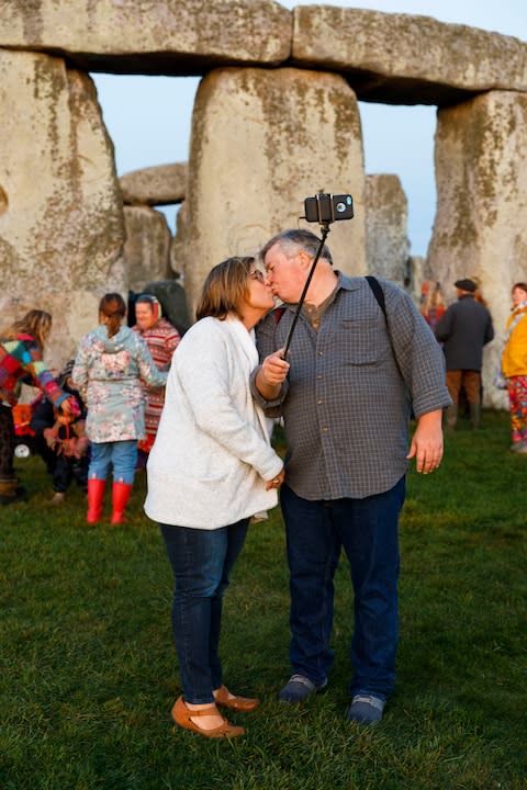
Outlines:
<svg viewBox="0 0 527 790"><path fill-rule="evenodd" d="M159 524L176 578L172 632L186 702L213 702L222 686L222 600L249 519L221 529Z"/></svg>

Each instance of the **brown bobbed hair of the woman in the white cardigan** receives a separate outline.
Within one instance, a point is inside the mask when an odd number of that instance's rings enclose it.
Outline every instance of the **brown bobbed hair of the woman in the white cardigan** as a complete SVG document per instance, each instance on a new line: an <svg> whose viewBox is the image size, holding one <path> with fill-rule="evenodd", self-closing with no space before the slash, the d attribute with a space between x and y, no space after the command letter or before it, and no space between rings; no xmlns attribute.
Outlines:
<svg viewBox="0 0 527 790"><path fill-rule="evenodd" d="M212 316L223 320L229 313L242 318L240 307L247 295L247 275L256 266L249 256L227 258L209 272L195 308L195 317Z"/></svg>

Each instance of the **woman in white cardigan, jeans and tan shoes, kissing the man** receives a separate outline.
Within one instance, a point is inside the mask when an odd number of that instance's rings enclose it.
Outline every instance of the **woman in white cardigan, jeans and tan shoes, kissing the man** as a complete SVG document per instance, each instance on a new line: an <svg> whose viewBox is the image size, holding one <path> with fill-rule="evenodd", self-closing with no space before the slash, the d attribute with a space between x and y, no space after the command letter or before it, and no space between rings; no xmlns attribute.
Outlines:
<svg viewBox="0 0 527 790"><path fill-rule="evenodd" d="M282 461L255 405L254 326L273 298L254 258L229 258L206 278L198 323L172 360L147 464L145 510L159 522L176 577L172 630L183 696L175 722L206 737L236 737L216 704L254 710L232 695L218 657L222 598L253 515L277 504Z"/></svg>

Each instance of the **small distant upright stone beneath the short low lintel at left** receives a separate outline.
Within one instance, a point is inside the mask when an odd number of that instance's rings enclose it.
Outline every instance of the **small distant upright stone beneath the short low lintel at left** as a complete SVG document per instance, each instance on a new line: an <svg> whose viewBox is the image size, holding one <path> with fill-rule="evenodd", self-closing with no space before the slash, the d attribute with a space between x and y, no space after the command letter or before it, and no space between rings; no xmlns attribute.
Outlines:
<svg viewBox="0 0 527 790"><path fill-rule="evenodd" d="M152 280L166 280L171 234L165 215L149 206L124 206L124 226L128 287L142 291Z"/></svg>

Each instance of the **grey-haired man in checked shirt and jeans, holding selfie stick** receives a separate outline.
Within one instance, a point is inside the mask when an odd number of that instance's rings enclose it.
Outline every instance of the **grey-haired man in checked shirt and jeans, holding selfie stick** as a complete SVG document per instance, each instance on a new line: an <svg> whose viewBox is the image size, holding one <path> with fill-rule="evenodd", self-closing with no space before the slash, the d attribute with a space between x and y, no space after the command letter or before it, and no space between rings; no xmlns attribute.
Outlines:
<svg viewBox="0 0 527 790"><path fill-rule="evenodd" d="M341 545L355 590L347 718L371 724L381 719L395 677L397 521L406 467L414 458L424 474L439 466L441 410L450 398L440 347L408 296L382 282L389 331L367 280L334 271L327 247L288 361L281 358L317 248L309 230L287 230L261 252L267 282L284 302L283 312L259 327L262 362L253 374L254 396L269 416L283 416L288 444L281 506L293 675L279 698L302 702L327 684ZM408 452L411 403L417 427Z"/></svg>

